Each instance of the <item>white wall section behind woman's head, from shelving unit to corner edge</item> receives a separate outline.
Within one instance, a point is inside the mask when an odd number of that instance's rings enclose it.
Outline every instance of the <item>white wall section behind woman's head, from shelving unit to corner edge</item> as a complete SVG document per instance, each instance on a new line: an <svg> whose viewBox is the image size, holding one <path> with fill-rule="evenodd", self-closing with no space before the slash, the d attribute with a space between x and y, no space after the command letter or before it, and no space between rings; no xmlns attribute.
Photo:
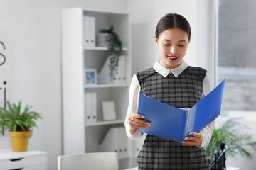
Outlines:
<svg viewBox="0 0 256 170"><path fill-rule="evenodd" d="M142 11L143 8L143 11ZM192 39L184 60L197 65L197 1L160 0L128 1L132 24L132 72L152 67L159 60L159 51L154 42L154 33L159 19L166 13L179 13L191 24Z"/></svg>

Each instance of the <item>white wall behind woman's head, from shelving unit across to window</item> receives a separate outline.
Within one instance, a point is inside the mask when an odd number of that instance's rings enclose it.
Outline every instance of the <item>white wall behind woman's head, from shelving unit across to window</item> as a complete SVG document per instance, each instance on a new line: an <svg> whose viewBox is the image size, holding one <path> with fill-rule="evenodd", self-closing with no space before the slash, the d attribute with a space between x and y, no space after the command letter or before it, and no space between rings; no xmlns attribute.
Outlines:
<svg viewBox="0 0 256 170"><path fill-rule="evenodd" d="M203 67L213 82L214 1L204 0L129 0L132 25L132 73L152 67L159 60L154 33L159 19L166 13L179 13L191 24L191 43L184 60ZM143 9L143 10L142 10Z"/></svg>

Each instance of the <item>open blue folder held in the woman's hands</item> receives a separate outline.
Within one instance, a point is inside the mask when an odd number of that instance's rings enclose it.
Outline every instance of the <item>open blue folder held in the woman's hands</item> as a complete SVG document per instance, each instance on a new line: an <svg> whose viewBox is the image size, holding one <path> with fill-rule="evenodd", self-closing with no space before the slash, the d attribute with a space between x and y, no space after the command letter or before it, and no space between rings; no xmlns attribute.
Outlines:
<svg viewBox="0 0 256 170"><path fill-rule="evenodd" d="M151 127L140 132L182 142L189 132L200 132L220 115L225 79L192 108L176 108L139 94L138 113Z"/></svg>

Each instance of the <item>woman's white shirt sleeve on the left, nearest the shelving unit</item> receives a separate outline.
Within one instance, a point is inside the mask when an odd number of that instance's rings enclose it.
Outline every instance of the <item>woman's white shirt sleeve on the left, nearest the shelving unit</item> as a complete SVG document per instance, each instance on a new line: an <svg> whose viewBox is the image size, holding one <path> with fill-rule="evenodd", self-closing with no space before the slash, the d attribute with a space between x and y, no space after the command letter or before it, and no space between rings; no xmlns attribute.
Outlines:
<svg viewBox="0 0 256 170"><path fill-rule="evenodd" d="M130 128L129 128L129 123L128 123L128 118L131 113L138 113L138 104L139 104L139 91L140 91L140 84L137 76L134 74L132 77L132 82L130 84L130 89L129 89L129 105L127 109L127 115L124 120L124 126L126 129L127 136L131 140L135 140L138 138L142 138L143 133L139 132L138 130L132 135L130 133Z"/></svg>

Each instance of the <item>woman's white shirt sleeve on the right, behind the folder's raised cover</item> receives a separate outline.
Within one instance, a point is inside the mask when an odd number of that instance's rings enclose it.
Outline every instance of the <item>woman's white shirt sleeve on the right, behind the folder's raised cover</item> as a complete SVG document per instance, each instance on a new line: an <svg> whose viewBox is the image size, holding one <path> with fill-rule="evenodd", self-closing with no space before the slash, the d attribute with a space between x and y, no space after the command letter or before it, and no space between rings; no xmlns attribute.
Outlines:
<svg viewBox="0 0 256 170"><path fill-rule="evenodd" d="M210 78L209 78L208 72L206 72L206 77L203 79L202 98L204 96L206 96L207 94L209 94L210 91L211 91ZM210 142L210 138L213 135L214 124L215 124L215 120L213 120L213 122L211 122L209 125L207 125L206 128L203 128L203 130L201 130L201 133L203 135L203 140L202 140L201 144L196 145L196 147L205 147L206 145L208 145L208 143Z"/></svg>

